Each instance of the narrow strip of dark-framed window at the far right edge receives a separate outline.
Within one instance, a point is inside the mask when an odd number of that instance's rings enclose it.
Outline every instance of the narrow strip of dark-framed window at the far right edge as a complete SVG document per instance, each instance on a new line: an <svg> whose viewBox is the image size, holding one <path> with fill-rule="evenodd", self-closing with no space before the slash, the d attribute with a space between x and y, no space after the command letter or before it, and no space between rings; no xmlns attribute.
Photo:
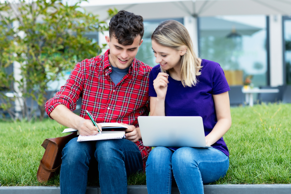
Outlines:
<svg viewBox="0 0 291 194"><path fill-rule="evenodd" d="M291 85L291 17L283 17L283 51L285 83Z"/></svg>

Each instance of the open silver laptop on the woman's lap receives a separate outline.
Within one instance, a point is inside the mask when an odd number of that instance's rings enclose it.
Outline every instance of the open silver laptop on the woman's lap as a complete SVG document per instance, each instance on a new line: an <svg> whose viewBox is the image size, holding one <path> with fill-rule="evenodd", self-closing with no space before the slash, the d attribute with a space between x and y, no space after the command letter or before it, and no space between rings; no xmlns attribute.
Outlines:
<svg viewBox="0 0 291 194"><path fill-rule="evenodd" d="M139 116L143 145L200 147L206 145L202 117Z"/></svg>

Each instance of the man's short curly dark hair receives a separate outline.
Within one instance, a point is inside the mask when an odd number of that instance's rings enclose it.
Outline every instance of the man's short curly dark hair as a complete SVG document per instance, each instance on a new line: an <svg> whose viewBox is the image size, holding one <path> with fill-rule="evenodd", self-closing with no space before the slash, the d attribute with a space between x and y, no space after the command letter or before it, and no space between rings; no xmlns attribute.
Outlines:
<svg viewBox="0 0 291 194"><path fill-rule="evenodd" d="M134 38L143 38L143 17L125 10L119 11L109 22L109 37L116 38L124 46L132 45Z"/></svg>

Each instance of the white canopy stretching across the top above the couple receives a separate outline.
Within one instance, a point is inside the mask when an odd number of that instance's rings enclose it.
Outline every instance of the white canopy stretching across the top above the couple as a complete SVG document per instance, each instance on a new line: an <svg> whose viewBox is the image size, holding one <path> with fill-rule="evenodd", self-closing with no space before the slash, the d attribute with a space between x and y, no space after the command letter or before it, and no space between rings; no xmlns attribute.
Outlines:
<svg viewBox="0 0 291 194"><path fill-rule="evenodd" d="M145 19L181 18L217 15L290 15L291 0L91 0L81 6L89 12L107 17L109 8L127 10Z"/></svg>

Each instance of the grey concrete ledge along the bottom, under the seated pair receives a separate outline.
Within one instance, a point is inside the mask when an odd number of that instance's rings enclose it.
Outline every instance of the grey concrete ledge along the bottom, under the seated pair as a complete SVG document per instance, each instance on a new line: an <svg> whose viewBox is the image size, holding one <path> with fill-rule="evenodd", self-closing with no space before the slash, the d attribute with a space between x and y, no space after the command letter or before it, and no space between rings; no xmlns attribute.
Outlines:
<svg viewBox="0 0 291 194"><path fill-rule="evenodd" d="M148 194L146 185L127 186L128 194ZM60 187L54 186L1 186L1 194L59 194ZM173 194L179 194L177 187L172 187ZM291 184L259 185L204 185L205 194L290 194ZM101 194L100 187L87 187L86 194Z"/></svg>

